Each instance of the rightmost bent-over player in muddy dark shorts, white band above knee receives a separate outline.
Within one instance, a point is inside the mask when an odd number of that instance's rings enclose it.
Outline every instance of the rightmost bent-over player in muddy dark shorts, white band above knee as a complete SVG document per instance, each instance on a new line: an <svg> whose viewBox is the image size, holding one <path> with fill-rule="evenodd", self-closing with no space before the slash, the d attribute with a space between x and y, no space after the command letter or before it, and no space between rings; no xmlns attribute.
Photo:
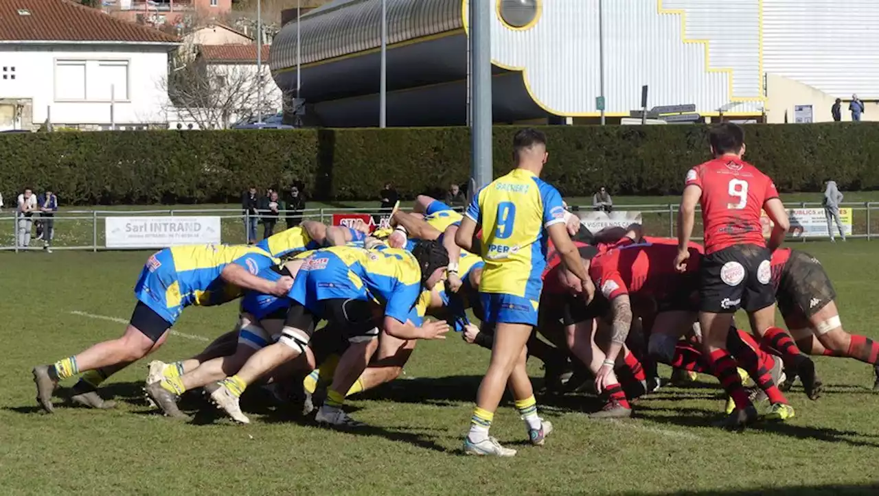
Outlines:
<svg viewBox="0 0 879 496"><path fill-rule="evenodd" d="M879 390L879 343L849 334L839 320L836 291L817 258L805 252L779 248L772 255L772 279L778 308L798 349L817 356L843 356L873 365ZM790 370L786 386L796 373ZM816 378L817 385L820 380Z"/></svg>

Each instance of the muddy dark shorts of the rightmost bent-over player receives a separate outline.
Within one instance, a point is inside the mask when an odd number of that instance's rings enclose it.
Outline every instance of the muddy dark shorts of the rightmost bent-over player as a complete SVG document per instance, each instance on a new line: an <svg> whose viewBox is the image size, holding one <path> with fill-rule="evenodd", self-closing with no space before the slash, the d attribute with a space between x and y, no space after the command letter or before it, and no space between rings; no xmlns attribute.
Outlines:
<svg viewBox="0 0 879 496"><path fill-rule="evenodd" d="M785 319L795 316L809 319L836 299L836 291L817 258L791 250L788 262L781 269L775 296L778 298L778 309Z"/></svg>

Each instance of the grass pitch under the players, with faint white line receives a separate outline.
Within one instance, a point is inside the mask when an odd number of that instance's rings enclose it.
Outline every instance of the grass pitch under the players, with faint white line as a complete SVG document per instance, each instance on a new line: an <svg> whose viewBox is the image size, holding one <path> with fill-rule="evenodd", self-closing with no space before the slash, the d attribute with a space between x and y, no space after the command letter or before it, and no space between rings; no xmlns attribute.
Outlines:
<svg viewBox="0 0 879 496"><path fill-rule="evenodd" d="M805 248L831 274L846 328L879 338L872 308L879 244ZM194 424L170 421L142 402L143 363L105 385L105 397L120 400L115 411L59 406L54 415L41 413L30 369L118 336L123 325L71 312L127 319L147 255L0 253L0 493L800 496L879 489L871 485L879 469L873 372L840 358L816 359L829 385L824 398L810 402L795 387L789 394L795 419L742 435L708 427L723 407L708 377L642 399L630 421L589 421L583 413L599 406L591 397L543 399L542 414L557 429L543 448L524 445L521 422L507 403L492 434L520 451L504 460L460 454L488 353L457 336L420 343L406 378L350 401L353 415L372 426L360 434L312 427L292 408L267 406L259 390L243 401L251 425L231 425L199 397L185 401L185 408L203 411ZM193 308L176 329L213 338L235 319L234 304ZM156 358L190 356L204 344L171 336Z"/></svg>

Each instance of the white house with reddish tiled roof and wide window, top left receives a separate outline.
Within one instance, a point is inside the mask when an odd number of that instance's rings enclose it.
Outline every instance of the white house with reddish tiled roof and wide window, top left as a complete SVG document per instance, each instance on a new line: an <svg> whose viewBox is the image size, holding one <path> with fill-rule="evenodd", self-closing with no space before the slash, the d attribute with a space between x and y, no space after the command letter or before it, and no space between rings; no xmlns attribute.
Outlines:
<svg viewBox="0 0 879 496"><path fill-rule="evenodd" d="M0 1L0 130L165 126L178 40L65 0Z"/></svg>

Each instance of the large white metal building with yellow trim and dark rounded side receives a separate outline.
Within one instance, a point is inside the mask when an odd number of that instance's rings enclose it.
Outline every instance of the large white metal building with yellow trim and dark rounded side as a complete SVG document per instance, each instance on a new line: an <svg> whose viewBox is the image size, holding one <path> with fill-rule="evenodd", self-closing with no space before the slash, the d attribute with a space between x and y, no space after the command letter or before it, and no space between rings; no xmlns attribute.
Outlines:
<svg viewBox="0 0 879 496"><path fill-rule="evenodd" d="M811 105L830 120L839 97L846 120L857 94L879 120L876 0L604 0L600 16L599 0L482 1L498 122L595 122L602 79L611 122L641 107L643 85L649 107L705 117L793 122ZM389 3L389 125L466 122L468 4ZM301 81L307 123L377 125L380 26L381 0L335 0L302 17L301 50L296 22L275 37L272 74L284 90Z"/></svg>

